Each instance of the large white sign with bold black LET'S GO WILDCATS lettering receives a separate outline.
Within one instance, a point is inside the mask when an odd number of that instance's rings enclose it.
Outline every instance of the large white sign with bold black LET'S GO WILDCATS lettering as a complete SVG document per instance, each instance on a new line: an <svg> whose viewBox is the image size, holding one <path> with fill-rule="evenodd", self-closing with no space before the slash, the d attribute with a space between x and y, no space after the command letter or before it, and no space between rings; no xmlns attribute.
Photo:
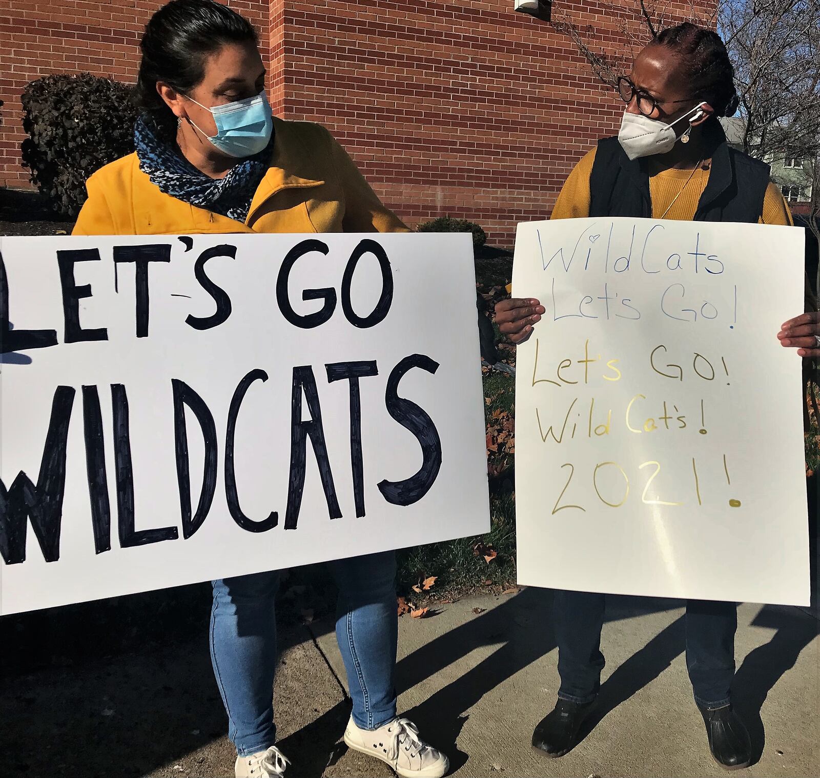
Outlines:
<svg viewBox="0 0 820 778"><path fill-rule="evenodd" d="M0 613L490 528L470 236L0 252Z"/></svg>

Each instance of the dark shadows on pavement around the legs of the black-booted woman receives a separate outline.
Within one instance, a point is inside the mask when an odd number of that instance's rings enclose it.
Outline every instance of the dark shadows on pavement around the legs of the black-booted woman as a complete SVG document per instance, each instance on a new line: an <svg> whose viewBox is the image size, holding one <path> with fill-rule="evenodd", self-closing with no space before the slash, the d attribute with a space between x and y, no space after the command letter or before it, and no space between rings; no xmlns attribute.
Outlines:
<svg viewBox="0 0 820 778"><path fill-rule="evenodd" d="M400 690L408 689L477 646L504 641L490 657L407 713L421 722L424 730L435 732L436 745L449 754L453 771L467 762L467 754L458 751L457 740L470 708L487 691L556 648L549 619L551 605L549 591L525 589L517 597L436 638L399 662ZM606 620L641 612L667 611L682 605L683 602L674 600L608 597ZM795 608L767 606L758 613L753 625L777 630L768 643L749 653L732 684L736 709L749 727L754 762L757 762L765 743L760 716L763 702L781 676L795 665L800 652L818 635L818 621ZM740 629L743 627L740 625ZM590 735L608 713L658 678L685 648L686 616L680 616L618 666L601 685L599 706L582 728L579 742ZM605 643L602 649L606 653ZM544 698L544 715L553 704L554 698ZM536 723L526 722L526 726Z"/></svg>

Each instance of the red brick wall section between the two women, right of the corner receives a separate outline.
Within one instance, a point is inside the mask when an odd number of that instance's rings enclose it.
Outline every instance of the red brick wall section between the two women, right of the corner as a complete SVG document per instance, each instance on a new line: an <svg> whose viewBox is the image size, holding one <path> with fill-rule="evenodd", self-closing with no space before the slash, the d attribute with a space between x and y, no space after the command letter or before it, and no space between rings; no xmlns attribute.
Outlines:
<svg viewBox="0 0 820 778"><path fill-rule="evenodd" d="M285 117L326 124L409 223L466 217L512 245L515 222L550 213L623 110L571 39L512 7L286 0ZM554 0L553 19L623 54L636 7ZM665 8L667 20L692 13L686 0Z"/></svg>

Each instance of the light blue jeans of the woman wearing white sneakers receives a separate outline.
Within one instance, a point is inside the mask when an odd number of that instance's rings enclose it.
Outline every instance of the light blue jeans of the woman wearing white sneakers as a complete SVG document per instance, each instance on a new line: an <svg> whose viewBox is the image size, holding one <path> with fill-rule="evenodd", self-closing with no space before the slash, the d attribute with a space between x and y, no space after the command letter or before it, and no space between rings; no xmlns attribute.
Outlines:
<svg viewBox="0 0 820 778"><path fill-rule="evenodd" d="M339 587L336 640L348 675L353 721L377 730L396 716L399 618L393 551L329 563ZM276 590L279 571L213 582L211 659L239 756L276 743Z"/></svg>

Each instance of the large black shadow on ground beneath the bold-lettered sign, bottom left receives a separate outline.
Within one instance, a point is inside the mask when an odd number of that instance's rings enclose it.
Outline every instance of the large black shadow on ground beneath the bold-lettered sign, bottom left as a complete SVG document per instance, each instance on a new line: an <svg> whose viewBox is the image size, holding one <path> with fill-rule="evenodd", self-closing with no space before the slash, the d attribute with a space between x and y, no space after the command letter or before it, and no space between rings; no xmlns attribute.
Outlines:
<svg viewBox="0 0 820 778"><path fill-rule="evenodd" d="M210 608L205 583L4 616L0 776L145 776L224 738ZM280 650L305 639L283 629ZM175 775L233 775L234 756Z"/></svg>

